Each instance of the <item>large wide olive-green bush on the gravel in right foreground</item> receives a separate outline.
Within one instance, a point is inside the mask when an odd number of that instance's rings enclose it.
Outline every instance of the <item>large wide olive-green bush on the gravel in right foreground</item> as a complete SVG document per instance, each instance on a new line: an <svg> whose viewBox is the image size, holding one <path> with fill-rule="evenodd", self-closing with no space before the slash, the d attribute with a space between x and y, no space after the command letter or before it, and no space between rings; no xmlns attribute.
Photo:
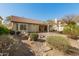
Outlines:
<svg viewBox="0 0 79 59"><path fill-rule="evenodd" d="M51 48L56 48L62 51L67 51L70 46L69 42L61 36L48 36L46 42Z"/></svg>

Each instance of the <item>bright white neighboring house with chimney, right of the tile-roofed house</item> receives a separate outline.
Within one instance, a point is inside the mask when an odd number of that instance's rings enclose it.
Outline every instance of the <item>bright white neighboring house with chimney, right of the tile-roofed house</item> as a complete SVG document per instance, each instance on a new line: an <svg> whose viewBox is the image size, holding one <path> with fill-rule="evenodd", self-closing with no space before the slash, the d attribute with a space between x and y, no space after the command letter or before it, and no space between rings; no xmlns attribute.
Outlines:
<svg viewBox="0 0 79 59"><path fill-rule="evenodd" d="M54 19L54 20L48 20L49 26L49 31L63 31L65 22L62 20Z"/></svg>

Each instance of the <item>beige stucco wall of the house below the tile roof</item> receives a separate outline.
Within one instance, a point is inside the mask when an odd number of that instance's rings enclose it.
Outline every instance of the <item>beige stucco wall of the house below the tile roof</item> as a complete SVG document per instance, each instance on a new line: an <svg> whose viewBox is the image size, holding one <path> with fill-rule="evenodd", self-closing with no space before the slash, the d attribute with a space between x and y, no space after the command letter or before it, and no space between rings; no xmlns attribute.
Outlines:
<svg viewBox="0 0 79 59"><path fill-rule="evenodd" d="M21 30L20 25L26 25L26 30ZM37 24L25 24L25 23L13 23L12 30L24 31L24 32L39 32L39 25Z"/></svg>

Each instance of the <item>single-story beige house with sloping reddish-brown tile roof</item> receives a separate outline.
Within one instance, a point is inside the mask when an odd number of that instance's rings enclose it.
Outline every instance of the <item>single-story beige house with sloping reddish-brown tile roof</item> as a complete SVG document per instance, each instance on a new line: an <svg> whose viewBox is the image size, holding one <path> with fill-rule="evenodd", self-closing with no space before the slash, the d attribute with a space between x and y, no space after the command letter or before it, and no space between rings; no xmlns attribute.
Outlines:
<svg viewBox="0 0 79 59"><path fill-rule="evenodd" d="M8 28L14 31L23 32L47 32L48 25L38 20L18 16L10 16L10 23Z"/></svg>

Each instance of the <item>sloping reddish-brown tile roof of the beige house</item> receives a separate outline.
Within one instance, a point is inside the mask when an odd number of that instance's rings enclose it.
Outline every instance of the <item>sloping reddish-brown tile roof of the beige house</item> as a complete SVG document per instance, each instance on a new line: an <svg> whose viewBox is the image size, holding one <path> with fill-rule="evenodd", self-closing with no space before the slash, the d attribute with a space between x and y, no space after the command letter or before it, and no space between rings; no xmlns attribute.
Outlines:
<svg viewBox="0 0 79 59"><path fill-rule="evenodd" d="M18 22L18 23L31 23L31 24L39 24L39 25L47 25L46 23L39 21L39 20L33 20L29 18L23 18L18 16L11 16L12 22Z"/></svg>

